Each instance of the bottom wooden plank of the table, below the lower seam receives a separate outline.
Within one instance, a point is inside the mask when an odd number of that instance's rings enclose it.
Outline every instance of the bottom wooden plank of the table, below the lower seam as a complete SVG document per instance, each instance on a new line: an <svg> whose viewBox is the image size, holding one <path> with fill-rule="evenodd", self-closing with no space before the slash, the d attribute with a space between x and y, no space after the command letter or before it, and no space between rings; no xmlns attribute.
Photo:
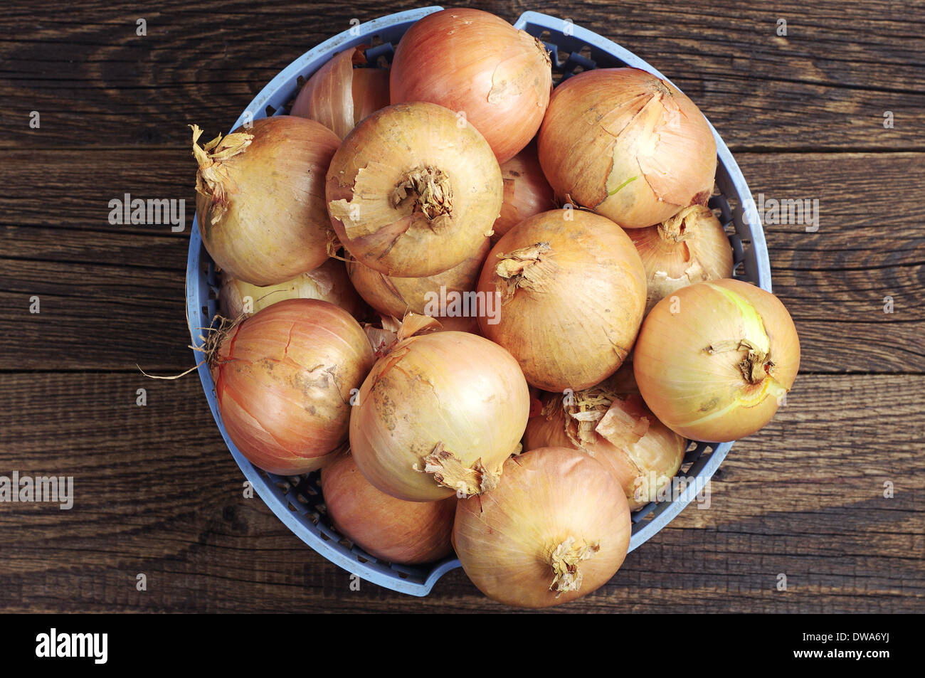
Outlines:
<svg viewBox="0 0 925 678"><path fill-rule="evenodd" d="M800 382L771 425L735 444L709 508L688 506L598 593L555 611L920 610L923 379ZM194 376L7 375L0 431L0 469L74 476L70 511L0 509L2 610L505 610L461 571L423 599L351 591L348 573L243 499Z"/></svg>

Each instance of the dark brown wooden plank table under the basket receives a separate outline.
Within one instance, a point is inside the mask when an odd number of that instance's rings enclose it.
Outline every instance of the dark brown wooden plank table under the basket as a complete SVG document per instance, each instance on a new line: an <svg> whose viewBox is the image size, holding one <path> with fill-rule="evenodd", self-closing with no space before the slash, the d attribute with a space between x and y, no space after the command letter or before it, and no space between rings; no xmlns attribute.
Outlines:
<svg viewBox="0 0 925 678"><path fill-rule="evenodd" d="M803 345L787 406L735 444L709 510L688 507L560 611L923 609L925 5L775 5L474 3L621 43L702 108L756 198L819 201L816 232L765 227ZM0 14L0 475L73 475L75 495L70 511L0 504L0 610L506 610L460 570L423 599L352 591L244 499L196 376L136 367L193 364L190 228L108 218L130 193L186 199L189 225L188 123L226 131L351 18L413 4L156 6Z"/></svg>

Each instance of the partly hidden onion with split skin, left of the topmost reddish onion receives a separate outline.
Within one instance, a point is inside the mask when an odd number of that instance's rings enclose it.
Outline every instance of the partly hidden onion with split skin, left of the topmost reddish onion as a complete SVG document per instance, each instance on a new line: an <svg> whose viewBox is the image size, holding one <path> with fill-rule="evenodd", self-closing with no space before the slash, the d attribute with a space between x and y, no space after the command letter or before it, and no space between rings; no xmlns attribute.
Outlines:
<svg viewBox="0 0 925 678"><path fill-rule="evenodd" d="M365 64L360 47L334 55L302 86L290 111L331 129L340 139L360 120L388 105L388 70L353 68Z"/></svg>

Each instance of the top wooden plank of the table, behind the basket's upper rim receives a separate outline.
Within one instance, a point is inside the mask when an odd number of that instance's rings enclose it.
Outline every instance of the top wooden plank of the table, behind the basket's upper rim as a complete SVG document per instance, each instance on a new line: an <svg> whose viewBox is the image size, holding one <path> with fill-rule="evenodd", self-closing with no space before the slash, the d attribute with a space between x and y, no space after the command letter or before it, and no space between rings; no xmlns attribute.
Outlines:
<svg viewBox="0 0 925 678"><path fill-rule="evenodd" d="M570 18L642 56L699 105L734 151L925 148L925 9L842 0L458 3L515 20ZM13 6L0 16L0 146L185 146L186 124L227 131L253 95L331 35L411 2L207 4L80 12ZM145 18L147 35L136 34ZM787 22L786 36L778 21ZM30 112L41 129L28 127ZM883 114L893 111L894 127Z"/></svg>

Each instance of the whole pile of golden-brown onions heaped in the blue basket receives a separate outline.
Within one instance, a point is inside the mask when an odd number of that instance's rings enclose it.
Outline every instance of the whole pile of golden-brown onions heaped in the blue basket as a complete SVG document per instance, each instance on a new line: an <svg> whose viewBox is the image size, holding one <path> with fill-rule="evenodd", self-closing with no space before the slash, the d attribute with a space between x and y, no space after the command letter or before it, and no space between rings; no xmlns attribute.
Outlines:
<svg viewBox="0 0 925 678"><path fill-rule="evenodd" d="M233 449L320 470L357 547L455 549L489 598L557 605L621 567L687 439L771 420L796 328L731 279L684 93L638 68L553 90L546 45L481 10L410 23L390 68L340 41L290 116L191 126L226 316L203 351Z"/></svg>

